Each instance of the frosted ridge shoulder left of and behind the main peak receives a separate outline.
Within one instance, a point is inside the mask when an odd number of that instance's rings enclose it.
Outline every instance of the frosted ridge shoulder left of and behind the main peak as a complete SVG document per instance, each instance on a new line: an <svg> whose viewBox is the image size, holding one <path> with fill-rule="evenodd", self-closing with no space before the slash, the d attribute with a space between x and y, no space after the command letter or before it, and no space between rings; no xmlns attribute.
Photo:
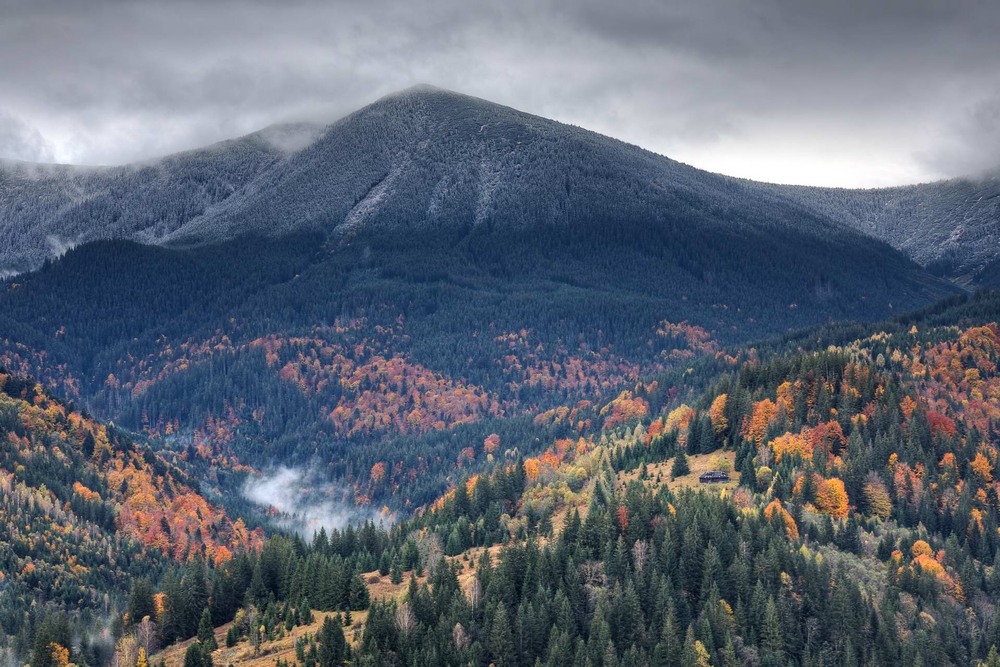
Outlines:
<svg viewBox="0 0 1000 667"><path fill-rule="evenodd" d="M0 160L0 276L100 239L156 243L308 145L293 124L148 163L74 167Z"/></svg>

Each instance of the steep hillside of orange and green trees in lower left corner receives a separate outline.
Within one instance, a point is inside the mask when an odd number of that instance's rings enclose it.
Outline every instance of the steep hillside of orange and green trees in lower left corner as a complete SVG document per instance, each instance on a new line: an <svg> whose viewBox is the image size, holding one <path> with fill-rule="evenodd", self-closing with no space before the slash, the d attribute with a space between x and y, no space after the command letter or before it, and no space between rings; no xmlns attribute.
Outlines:
<svg viewBox="0 0 1000 667"><path fill-rule="evenodd" d="M32 664L45 664L56 642L101 664L134 581L263 542L144 445L4 371L0 496L5 661L34 652Z"/></svg>

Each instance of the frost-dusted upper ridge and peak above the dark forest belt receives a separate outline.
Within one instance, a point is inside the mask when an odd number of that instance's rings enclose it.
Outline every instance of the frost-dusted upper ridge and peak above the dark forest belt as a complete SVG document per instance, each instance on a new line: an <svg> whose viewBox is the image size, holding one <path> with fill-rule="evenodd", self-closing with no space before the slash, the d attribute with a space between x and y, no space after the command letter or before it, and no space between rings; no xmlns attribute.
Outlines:
<svg viewBox="0 0 1000 667"><path fill-rule="evenodd" d="M934 247L948 241L941 233L903 235L897 230L905 220L882 232L866 223L874 205L865 198L878 195L864 193L885 190L779 186L713 174L427 85L384 96L329 125L269 126L146 163L13 164L0 165L0 229L6 231L0 268L7 274L102 238L194 246L248 233L323 231L350 240L393 230L579 225L611 215L627 225L663 218L692 198L722 216L731 207L754 209L757 225L779 221L874 236L925 266L940 259L947 249ZM931 186L937 187L910 187ZM789 219L781 212L787 202L804 214ZM961 218L960 211L952 215ZM927 242L912 247L913 238L924 236ZM961 255L969 243L951 245L952 254ZM972 254L957 262L961 271L968 273L970 262L981 270L997 253Z"/></svg>

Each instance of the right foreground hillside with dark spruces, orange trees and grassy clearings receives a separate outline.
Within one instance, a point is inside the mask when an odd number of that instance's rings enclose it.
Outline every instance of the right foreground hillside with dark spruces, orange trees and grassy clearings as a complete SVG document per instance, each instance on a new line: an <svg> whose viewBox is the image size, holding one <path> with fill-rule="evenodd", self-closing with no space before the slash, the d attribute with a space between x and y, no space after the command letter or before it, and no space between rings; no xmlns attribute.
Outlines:
<svg viewBox="0 0 1000 667"><path fill-rule="evenodd" d="M534 456L491 437L491 465L388 532L220 566L209 609L245 605L209 613L267 656L319 590L295 558L332 554L336 581L372 568L370 608L353 639L325 625L283 662L992 665L998 315L987 294L835 345L842 329L705 358ZM734 459L738 485L688 472ZM310 604L346 613L351 595ZM262 613L260 635L239 630ZM188 652L211 654L197 634Z"/></svg>

